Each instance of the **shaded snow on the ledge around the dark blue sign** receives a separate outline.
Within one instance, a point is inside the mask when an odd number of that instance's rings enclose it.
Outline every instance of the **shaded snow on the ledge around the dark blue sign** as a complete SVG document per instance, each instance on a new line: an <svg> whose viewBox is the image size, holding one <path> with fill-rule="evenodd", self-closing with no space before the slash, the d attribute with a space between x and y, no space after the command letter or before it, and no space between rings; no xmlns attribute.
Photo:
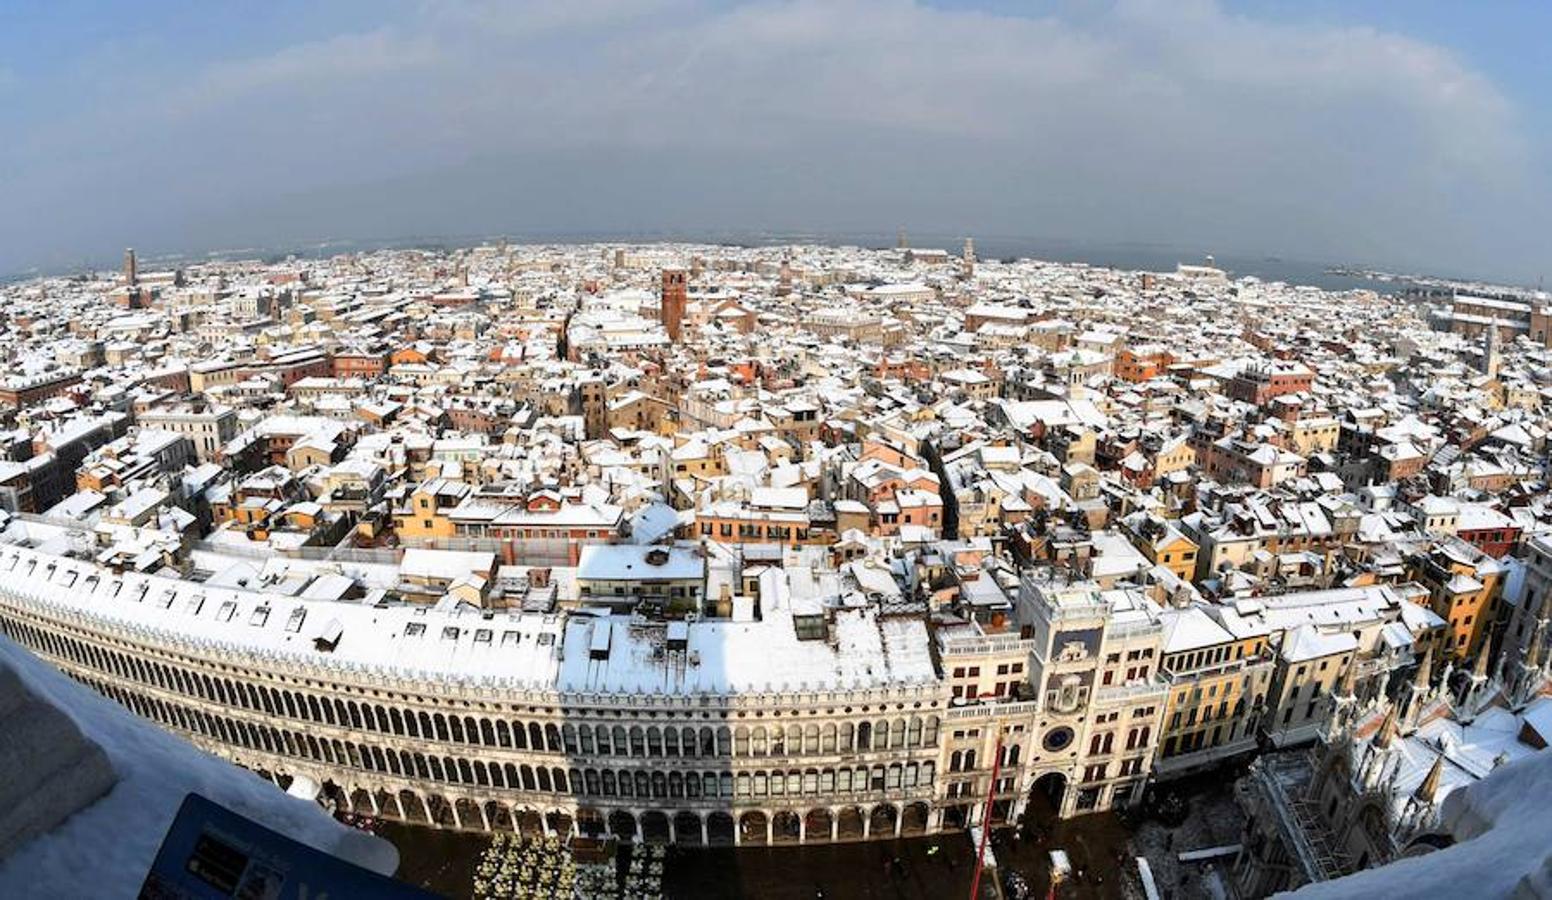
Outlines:
<svg viewBox="0 0 1552 900"><path fill-rule="evenodd" d="M16 669L39 698L70 715L102 746L120 774L107 796L0 860L0 897L133 897L191 791L376 872L393 874L397 867L397 852L386 841L348 829L317 804L287 796L259 776L138 718L6 638L0 638L0 667Z"/></svg>

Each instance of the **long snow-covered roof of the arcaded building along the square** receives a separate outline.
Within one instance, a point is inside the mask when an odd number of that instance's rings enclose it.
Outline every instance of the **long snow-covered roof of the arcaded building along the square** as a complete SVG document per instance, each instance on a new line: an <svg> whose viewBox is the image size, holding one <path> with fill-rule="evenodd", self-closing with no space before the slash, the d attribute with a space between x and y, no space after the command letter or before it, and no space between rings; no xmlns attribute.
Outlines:
<svg viewBox="0 0 1552 900"><path fill-rule="evenodd" d="M629 548L641 552L644 548ZM781 574L773 571L773 574ZM934 678L925 625L882 619L872 610L837 614L832 641L798 641L785 579L759 622L689 625L683 672L667 675L650 628L618 619L604 666L590 659L596 619L469 605L369 605L306 596L214 588L157 576L123 574L34 549L0 548L0 579L71 613L175 639L314 664L388 675L495 681L535 691L840 689ZM776 587L779 583L779 588ZM327 649L332 642L332 650ZM689 666L691 656L700 659Z"/></svg>

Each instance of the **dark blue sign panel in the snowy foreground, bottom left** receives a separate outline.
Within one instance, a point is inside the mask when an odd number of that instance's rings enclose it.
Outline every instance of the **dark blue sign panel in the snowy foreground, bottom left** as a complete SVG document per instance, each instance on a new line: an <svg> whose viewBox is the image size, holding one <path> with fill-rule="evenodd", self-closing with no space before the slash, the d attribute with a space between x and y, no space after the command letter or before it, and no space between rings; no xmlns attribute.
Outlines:
<svg viewBox="0 0 1552 900"><path fill-rule="evenodd" d="M199 794L183 798L141 900L436 897L293 841Z"/></svg>

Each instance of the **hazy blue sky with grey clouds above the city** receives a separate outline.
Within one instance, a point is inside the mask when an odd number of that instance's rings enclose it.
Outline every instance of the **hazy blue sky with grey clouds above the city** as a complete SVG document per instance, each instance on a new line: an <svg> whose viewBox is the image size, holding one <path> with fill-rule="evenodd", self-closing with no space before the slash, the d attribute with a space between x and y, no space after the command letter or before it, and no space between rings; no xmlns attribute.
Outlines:
<svg viewBox="0 0 1552 900"><path fill-rule="evenodd" d="M12 0L0 272L903 222L1527 282L1549 33L1436 0Z"/></svg>

